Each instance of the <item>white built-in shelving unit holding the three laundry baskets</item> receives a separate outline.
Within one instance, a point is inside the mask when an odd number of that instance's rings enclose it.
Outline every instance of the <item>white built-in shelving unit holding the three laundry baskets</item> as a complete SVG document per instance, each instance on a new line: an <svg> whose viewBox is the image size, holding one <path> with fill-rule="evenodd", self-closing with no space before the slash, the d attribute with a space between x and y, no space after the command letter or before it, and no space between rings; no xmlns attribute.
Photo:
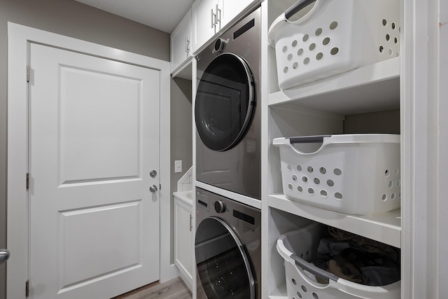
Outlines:
<svg viewBox="0 0 448 299"><path fill-rule="evenodd" d="M267 34L272 20L290 4L290 1L285 1L282 8L279 1L262 3L267 22L264 34ZM279 90L274 49L267 44L267 36L262 36L262 39L266 40L262 45L266 60L262 62L262 68L265 68L262 74L269 74L269 78L265 77L262 81L267 85L262 95L267 103L264 118L267 125L263 132L267 144L263 157L267 164L262 168L267 172L262 181L267 185L262 188L262 216L267 227L262 235L265 238L262 256L263 261L269 261L262 274L262 298L286 299L283 258L276 251L276 239L284 232L316 221L397 248L402 246L400 209L355 216L288 200L281 187L279 151L272 146L272 139L276 137L343 133L347 116L400 109L400 57Z"/></svg>

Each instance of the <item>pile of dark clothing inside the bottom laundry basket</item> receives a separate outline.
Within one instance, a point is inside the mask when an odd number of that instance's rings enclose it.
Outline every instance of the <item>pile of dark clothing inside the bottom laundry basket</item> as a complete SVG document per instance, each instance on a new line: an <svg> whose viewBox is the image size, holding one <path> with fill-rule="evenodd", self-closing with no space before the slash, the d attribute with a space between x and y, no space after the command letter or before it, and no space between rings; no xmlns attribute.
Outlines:
<svg viewBox="0 0 448 299"><path fill-rule="evenodd" d="M328 232L329 237L321 239L317 249L322 258L316 263L318 267L368 286L385 286L400 280L398 249L337 228L328 228Z"/></svg>

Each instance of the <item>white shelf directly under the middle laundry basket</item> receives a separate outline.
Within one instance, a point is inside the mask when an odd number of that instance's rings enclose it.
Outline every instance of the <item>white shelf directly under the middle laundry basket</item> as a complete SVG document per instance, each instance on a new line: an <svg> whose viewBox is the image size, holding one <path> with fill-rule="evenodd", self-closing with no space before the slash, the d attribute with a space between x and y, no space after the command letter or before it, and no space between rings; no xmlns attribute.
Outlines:
<svg viewBox="0 0 448 299"><path fill-rule="evenodd" d="M400 209L382 214L357 216L311 207L288 200L285 195L269 195L268 205L290 214L401 248Z"/></svg>

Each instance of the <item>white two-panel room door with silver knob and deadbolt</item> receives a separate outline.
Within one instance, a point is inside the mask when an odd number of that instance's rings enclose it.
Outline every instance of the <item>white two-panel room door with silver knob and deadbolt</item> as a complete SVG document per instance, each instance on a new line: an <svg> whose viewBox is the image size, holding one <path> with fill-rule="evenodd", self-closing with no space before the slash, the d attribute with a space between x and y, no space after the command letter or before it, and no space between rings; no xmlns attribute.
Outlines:
<svg viewBox="0 0 448 299"><path fill-rule="evenodd" d="M30 298L111 298L157 281L159 71L30 53Z"/></svg>

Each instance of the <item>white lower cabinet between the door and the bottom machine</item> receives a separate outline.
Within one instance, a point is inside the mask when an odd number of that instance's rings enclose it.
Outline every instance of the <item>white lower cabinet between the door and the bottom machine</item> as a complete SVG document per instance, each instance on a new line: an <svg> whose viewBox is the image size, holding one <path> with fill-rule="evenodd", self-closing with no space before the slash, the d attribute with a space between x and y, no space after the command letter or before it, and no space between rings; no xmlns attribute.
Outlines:
<svg viewBox="0 0 448 299"><path fill-rule="evenodd" d="M193 291L193 202L183 193L174 193L174 264Z"/></svg>

